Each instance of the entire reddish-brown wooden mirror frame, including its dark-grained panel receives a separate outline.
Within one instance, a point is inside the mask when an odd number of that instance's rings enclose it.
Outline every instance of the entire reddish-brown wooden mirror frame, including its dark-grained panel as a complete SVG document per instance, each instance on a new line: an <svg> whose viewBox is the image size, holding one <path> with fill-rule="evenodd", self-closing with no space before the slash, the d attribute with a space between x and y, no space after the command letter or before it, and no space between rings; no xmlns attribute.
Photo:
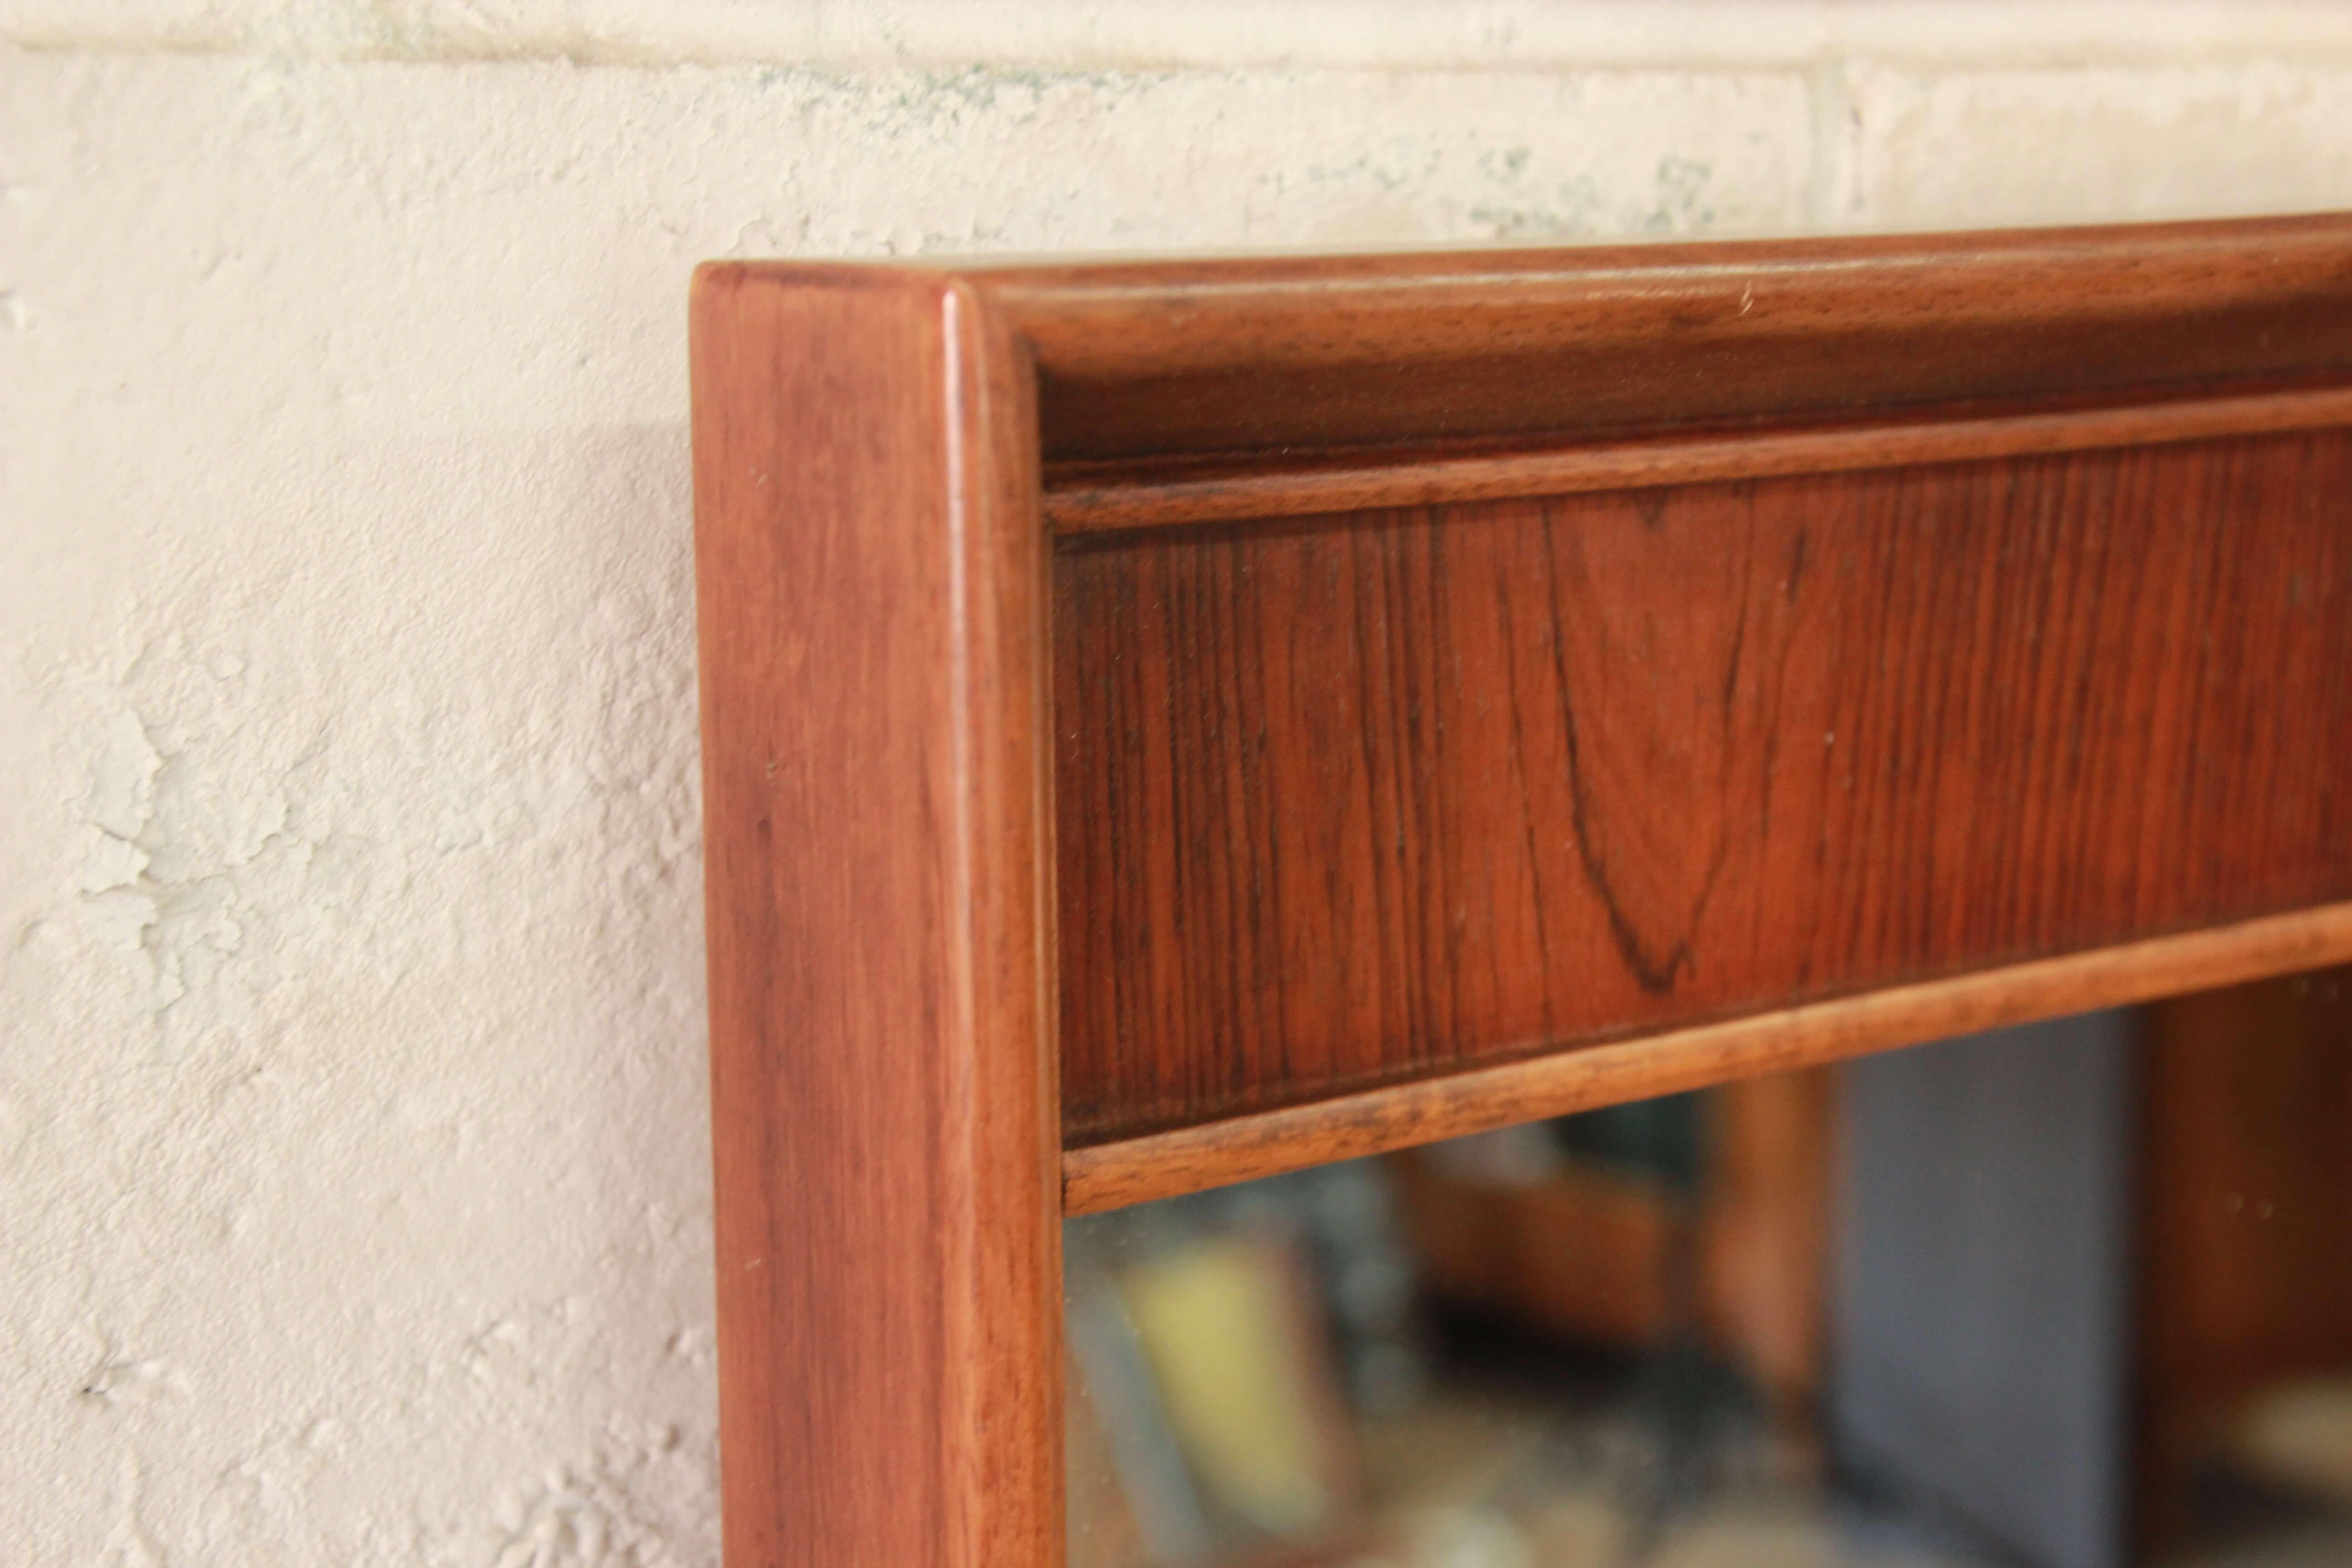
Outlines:
<svg viewBox="0 0 2352 1568"><path fill-rule="evenodd" d="M2352 221L701 270L727 1559L1061 1561L1058 1220L2352 957Z"/></svg>

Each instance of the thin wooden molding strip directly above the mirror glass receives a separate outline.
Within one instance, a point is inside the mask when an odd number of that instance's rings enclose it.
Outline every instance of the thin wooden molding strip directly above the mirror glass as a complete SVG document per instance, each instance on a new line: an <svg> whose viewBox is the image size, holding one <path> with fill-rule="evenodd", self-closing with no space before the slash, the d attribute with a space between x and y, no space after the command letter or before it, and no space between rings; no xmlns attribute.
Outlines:
<svg viewBox="0 0 2352 1568"><path fill-rule="evenodd" d="M1063 1213L1124 1208L1517 1121L2347 959L2352 903L2336 903L1367 1088L1063 1150Z"/></svg>

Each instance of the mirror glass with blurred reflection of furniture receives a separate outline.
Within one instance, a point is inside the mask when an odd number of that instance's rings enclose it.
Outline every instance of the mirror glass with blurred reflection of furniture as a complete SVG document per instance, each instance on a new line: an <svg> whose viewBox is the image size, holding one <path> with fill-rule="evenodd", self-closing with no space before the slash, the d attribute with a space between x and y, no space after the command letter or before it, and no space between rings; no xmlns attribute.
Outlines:
<svg viewBox="0 0 2352 1568"><path fill-rule="evenodd" d="M2343 1568L2345 980L1070 1220L1070 1566Z"/></svg>

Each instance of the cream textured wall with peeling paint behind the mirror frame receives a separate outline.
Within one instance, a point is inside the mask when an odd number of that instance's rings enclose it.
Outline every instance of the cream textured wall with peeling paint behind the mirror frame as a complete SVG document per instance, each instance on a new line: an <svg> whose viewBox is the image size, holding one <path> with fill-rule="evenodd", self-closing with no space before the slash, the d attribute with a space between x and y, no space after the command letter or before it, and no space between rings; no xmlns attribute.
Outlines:
<svg viewBox="0 0 2352 1568"><path fill-rule="evenodd" d="M2352 205L2336 5L0 38L5 1563L715 1563L694 261Z"/></svg>

